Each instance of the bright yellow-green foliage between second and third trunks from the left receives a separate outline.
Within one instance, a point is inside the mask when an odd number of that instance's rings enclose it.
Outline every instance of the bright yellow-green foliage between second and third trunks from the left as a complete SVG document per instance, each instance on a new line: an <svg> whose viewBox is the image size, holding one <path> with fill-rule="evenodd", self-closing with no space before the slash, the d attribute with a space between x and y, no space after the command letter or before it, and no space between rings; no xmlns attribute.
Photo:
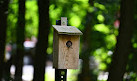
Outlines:
<svg viewBox="0 0 137 81"><path fill-rule="evenodd" d="M38 6L37 1L26 1L26 37L37 36Z"/></svg>

